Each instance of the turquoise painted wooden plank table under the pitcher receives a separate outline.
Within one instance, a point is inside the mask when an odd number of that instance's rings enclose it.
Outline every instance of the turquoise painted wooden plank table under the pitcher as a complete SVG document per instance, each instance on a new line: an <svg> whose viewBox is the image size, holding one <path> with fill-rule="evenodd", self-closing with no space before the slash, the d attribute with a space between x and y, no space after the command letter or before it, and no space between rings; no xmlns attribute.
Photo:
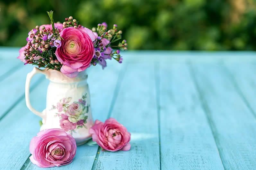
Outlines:
<svg viewBox="0 0 256 170"><path fill-rule="evenodd" d="M29 143L40 117L26 107L32 66L0 48L0 169L40 169ZM129 51L124 62L88 69L94 119L116 118L131 150L82 145L70 165L50 169L256 169L256 53ZM48 80L31 82L43 110Z"/></svg>

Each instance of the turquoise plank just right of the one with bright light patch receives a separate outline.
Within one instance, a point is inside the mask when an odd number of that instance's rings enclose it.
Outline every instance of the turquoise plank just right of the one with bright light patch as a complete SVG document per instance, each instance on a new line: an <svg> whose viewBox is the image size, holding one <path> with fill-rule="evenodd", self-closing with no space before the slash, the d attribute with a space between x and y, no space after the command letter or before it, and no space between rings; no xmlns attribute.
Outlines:
<svg viewBox="0 0 256 170"><path fill-rule="evenodd" d="M160 65L162 169L224 169L185 64Z"/></svg>

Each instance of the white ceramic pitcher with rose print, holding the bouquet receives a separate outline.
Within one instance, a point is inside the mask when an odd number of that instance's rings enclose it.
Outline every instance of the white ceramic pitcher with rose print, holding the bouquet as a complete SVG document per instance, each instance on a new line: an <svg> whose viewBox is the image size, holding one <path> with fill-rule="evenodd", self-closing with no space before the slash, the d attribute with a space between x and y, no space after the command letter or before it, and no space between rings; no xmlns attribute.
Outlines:
<svg viewBox="0 0 256 170"><path fill-rule="evenodd" d="M42 112L31 106L29 98L31 78L38 73L44 74L50 80L46 109ZM84 144L91 138L89 128L93 125L93 117L85 71L80 72L75 78L69 78L57 70L34 68L27 75L25 98L27 107L42 117L43 124L40 130L61 128L72 134L77 145Z"/></svg>

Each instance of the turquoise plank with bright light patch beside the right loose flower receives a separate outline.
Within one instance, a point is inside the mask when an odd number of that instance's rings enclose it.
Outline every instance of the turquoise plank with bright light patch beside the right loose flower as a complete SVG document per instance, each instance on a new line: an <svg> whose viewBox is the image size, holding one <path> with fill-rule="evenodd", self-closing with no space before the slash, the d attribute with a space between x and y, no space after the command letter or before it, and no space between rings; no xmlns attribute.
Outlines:
<svg viewBox="0 0 256 170"><path fill-rule="evenodd" d="M159 169L153 63L128 65L111 117L131 132L131 150L101 151L92 169Z"/></svg>

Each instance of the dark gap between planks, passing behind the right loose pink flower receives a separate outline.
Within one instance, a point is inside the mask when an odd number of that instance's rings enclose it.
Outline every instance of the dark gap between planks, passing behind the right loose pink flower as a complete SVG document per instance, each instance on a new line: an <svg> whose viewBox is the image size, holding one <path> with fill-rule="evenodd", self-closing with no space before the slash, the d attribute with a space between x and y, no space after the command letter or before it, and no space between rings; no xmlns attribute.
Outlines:
<svg viewBox="0 0 256 170"><path fill-rule="evenodd" d="M114 93L113 93L113 98L112 98L112 101L110 103L110 109L109 109L109 112L108 112L107 119L110 118L111 112L113 111L113 108L114 108L114 105L115 105L115 102L116 102L116 99L117 99L117 95L118 95L119 90L120 90L120 84L122 83L122 81L124 79L123 77L125 75L125 72L126 72L127 68L128 68L128 64L126 64L125 67L123 69L121 69L121 71L119 72L116 87L115 87L115 90L114 90ZM92 168L91 168L92 170L96 169L98 158L99 158L99 155L100 155L100 151L101 151L101 147L98 146L98 150L97 150L97 153L95 154L95 159L93 161L93 165L92 165Z"/></svg>

